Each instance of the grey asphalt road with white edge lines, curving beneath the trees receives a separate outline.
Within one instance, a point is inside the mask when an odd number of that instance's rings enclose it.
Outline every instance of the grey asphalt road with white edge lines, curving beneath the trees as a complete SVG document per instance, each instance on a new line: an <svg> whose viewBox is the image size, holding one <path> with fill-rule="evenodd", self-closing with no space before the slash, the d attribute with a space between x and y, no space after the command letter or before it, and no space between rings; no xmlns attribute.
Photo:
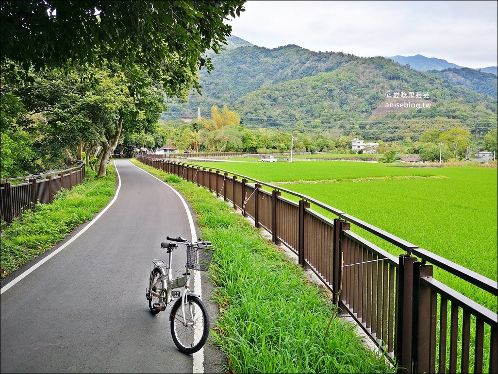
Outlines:
<svg viewBox="0 0 498 374"><path fill-rule="evenodd" d="M151 260L166 260L161 241L197 238L195 216L165 183L128 160L115 164L115 199L1 281L2 374L222 373L211 338L198 353L182 354L168 313L150 314L145 298ZM181 269L184 246L174 255L173 269ZM213 285L205 273L192 284L197 293L202 288L213 327Z"/></svg>

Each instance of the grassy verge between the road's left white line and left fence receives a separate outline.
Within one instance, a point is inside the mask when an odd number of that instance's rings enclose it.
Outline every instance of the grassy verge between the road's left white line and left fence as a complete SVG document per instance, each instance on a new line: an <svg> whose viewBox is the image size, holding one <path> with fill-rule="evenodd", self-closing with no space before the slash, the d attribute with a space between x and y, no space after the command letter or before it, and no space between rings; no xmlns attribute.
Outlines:
<svg viewBox="0 0 498 374"><path fill-rule="evenodd" d="M107 177L97 177L90 168L82 184L61 188L51 204L37 204L10 225L1 225L1 278L45 253L78 225L92 219L116 192L114 167Z"/></svg>

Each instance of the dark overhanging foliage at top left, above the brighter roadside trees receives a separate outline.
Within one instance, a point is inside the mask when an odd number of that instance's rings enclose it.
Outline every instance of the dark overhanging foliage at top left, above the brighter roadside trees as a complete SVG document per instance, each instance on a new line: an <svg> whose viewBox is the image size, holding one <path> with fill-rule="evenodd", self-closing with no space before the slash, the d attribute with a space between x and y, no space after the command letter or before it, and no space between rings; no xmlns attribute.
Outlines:
<svg viewBox="0 0 498 374"><path fill-rule="evenodd" d="M225 20L245 2L1 1L1 62L24 70L112 62L125 73L139 66L176 96L200 88L197 71L213 68L205 53L226 43Z"/></svg>

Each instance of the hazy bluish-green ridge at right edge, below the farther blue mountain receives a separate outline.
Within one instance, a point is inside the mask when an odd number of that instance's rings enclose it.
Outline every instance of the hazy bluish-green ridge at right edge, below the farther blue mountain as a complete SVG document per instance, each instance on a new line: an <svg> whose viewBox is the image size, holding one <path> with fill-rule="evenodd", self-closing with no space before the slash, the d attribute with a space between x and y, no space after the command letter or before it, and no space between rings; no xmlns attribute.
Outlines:
<svg viewBox="0 0 498 374"><path fill-rule="evenodd" d="M468 67L429 70L428 73L435 74L455 86L467 88L477 93L484 93L495 99L498 98L498 77L495 74Z"/></svg>

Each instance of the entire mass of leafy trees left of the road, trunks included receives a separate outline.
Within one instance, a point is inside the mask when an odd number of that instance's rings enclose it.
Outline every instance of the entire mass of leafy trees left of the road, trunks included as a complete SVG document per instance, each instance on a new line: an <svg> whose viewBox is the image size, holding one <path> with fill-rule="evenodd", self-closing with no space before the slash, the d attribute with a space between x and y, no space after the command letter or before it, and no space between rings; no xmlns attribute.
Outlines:
<svg viewBox="0 0 498 374"><path fill-rule="evenodd" d="M245 2L1 1L2 178L162 143L164 98L199 92Z"/></svg>

